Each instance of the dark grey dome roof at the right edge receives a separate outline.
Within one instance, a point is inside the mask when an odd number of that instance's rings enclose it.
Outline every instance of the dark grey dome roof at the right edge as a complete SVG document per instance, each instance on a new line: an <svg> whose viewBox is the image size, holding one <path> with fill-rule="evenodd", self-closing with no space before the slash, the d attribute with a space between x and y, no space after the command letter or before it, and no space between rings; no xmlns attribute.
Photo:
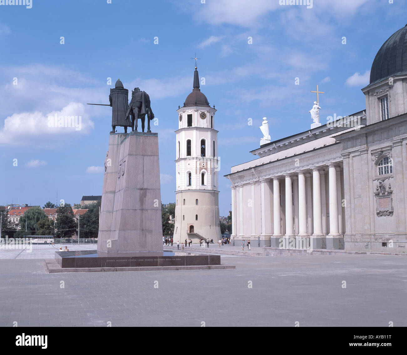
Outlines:
<svg viewBox="0 0 407 355"><path fill-rule="evenodd" d="M393 33L377 52L369 85L403 74L407 74L407 25Z"/></svg>

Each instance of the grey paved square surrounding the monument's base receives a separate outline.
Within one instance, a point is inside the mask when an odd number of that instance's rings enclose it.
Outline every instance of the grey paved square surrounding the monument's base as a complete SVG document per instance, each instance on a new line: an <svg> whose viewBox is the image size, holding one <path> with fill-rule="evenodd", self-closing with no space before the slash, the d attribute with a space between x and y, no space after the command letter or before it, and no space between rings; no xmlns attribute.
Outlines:
<svg viewBox="0 0 407 355"><path fill-rule="evenodd" d="M404 256L222 256L236 269L48 274L55 247L34 248L0 250L0 326L407 326Z"/></svg>

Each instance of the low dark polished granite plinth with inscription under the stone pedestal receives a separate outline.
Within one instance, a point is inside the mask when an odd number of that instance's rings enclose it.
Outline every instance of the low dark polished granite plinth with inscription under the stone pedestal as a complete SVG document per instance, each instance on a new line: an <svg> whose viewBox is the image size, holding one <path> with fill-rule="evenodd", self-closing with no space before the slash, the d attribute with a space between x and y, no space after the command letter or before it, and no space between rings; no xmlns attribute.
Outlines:
<svg viewBox="0 0 407 355"><path fill-rule="evenodd" d="M61 268L123 268L135 266L210 266L221 265L220 255L158 255L112 256L96 250L57 251L55 260Z"/></svg>

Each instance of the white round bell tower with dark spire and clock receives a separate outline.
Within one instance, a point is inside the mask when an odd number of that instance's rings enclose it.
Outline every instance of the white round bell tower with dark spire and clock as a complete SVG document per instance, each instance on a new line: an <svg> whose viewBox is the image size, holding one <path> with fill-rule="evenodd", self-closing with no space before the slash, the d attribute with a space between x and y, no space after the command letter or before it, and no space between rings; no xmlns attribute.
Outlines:
<svg viewBox="0 0 407 355"><path fill-rule="evenodd" d="M221 237L216 111L199 89L195 67L193 90L177 110L174 242Z"/></svg>

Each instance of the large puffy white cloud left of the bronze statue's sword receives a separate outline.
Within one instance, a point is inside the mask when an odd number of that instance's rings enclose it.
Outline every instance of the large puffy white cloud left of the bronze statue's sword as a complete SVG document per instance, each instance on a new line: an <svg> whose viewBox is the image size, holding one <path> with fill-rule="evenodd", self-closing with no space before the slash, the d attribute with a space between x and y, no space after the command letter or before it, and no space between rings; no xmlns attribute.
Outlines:
<svg viewBox="0 0 407 355"><path fill-rule="evenodd" d="M61 116L63 121L60 121ZM58 126L60 122L64 126ZM93 127L94 123L85 113L83 104L78 102L69 103L61 111L45 114L40 111L14 113L4 120L4 126L0 128L0 145L27 145L52 137L87 134Z"/></svg>

